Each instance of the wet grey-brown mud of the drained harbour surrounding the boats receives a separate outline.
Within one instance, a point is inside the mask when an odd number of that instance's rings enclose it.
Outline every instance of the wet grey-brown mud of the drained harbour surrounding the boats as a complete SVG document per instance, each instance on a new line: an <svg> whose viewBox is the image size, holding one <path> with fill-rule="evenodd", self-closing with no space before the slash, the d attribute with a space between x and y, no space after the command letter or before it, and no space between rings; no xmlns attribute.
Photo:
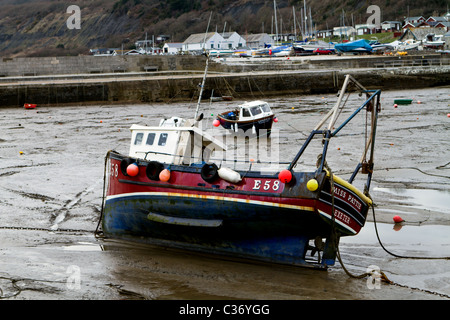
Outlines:
<svg viewBox="0 0 450 320"><path fill-rule="evenodd" d="M398 255L450 256L449 89L382 93L371 196L379 237ZM411 105L394 108L394 99L407 97ZM336 96L266 100L279 119L272 141L289 161ZM203 103L205 123L237 103ZM379 268L393 284L349 277L339 262L318 271L96 238L106 152L128 152L134 123L194 112L195 103L1 109L1 299L450 299L449 260L387 253L371 212L359 235L341 239L342 260L353 274ZM364 127L357 121L333 141L334 174L353 171ZM308 166L302 160L297 169ZM394 225L393 215L405 222Z"/></svg>

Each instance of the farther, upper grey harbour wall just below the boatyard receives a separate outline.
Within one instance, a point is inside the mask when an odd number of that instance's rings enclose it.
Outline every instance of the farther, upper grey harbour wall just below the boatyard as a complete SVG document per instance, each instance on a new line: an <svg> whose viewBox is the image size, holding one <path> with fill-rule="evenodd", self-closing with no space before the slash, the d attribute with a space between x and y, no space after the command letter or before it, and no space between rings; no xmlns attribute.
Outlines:
<svg viewBox="0 0 450 320"><path fill-rule="evenodd" d="M317 59L315 56L292 57L289 59L224 58L223 63L210 63L210 70L216 72L250 72L280 69L356 69L450 64L450 57L448 55L431 53L400 57L369 55L328 56L324 58ZM0 82L7 81L9 77L203 71L205 68L205 59L204 56L189 55L2 58L0 59Z"/></svg>

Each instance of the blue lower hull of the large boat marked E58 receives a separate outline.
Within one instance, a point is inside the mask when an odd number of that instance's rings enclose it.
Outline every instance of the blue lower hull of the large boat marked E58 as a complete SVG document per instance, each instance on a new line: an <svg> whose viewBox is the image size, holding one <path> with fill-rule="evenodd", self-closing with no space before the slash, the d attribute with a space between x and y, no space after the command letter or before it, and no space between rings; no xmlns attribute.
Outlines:
<svg viewBox="0 0 450 320"><path fill-rule="evenodd" d="M174 199L175 207L171 206L171 212L192 212L193 206L198 211L189 215L191 219L172 217L170 223L161 223L158 219L167 215L165 212L148 212L149 202L153 207L163 206L164 202L167 205L164 197L129 196L107 200L102 225L104 232L114 238L245 259L319 268L334 265L334 247L329 257L327 249L324 250L320 262L307 255L312 249L309 241L319 229L324 237L331 232L329 224L315 213L284 209L280 210L278 218L274 218L273 214L264 213L264 207L252 209L230 205L226 210L229 215L203 219L208 212L211 214L211 208L223 207L223 202L203 200L201 204L194 201L183 205L182 199ZM240 210L245 210L246 214L239 219L236 217ZM317 230L312 230L311 226L316 226Z"/></svg>

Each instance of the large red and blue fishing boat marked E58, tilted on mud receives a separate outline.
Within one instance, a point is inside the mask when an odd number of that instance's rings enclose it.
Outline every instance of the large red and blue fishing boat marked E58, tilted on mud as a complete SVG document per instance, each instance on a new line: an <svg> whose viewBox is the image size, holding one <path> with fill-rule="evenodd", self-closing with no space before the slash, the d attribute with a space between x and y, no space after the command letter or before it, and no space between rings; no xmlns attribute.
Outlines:
<svg viewBox="0 0 450 320"><path fill-rule="evenodd" d="M350 84L365 94L365 102L339 124ZM201 129L201 117L171 118L154 127L133 125L129 153L108 151L105 158L98 232L107 238L326 269L335 263L340 237L358 234L373 205L368 192L380 95L347 75L335 106L292 161L275 172L225 165L217 152L223 155L227 146ZM367 112L368 139L346 181L327 165L327 150L362 110ZM313 140L323 148L316 169L297 169ZM367 174L362 189L355 186L360 171Z"/></svg>

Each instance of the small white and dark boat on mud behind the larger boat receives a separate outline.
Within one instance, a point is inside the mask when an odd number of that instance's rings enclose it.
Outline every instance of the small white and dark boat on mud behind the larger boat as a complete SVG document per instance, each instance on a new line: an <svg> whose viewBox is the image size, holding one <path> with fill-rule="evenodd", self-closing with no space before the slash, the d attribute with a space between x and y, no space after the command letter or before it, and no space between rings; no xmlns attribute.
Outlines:
<svg viewBox="0 0 450 320"><path fill-rule="evenodd" d="M225 111L217 115L214 126L221 125L223 128L245 133L252 130L253 134L259 136L260 132L270 135L272 124L277 121L270 105L265 101L245 102L232 111Z"/></svg>

